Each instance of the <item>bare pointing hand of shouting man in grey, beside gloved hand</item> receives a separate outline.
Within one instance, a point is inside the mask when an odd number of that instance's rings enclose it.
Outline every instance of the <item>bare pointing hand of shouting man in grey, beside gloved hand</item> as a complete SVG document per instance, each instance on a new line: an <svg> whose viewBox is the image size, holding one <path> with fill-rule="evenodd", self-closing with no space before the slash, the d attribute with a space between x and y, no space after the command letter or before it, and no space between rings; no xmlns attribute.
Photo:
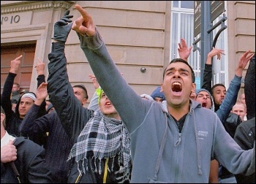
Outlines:
<svg viewBox="0 0 256 184"><path fill-rule="evenodd" d="M86 34L88 37L94 36L96 30L91 15L89 15L89 13L78 4L75 4L75 8L78 9L81 16L74 21L72 29L77 31L79 34Z"/></svg>

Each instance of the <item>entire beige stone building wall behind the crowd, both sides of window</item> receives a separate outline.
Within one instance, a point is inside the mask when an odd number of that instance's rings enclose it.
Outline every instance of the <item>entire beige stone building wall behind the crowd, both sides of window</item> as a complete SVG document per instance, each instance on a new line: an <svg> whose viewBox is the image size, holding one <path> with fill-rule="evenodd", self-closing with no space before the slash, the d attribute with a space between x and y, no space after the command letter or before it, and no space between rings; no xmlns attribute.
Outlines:
<svg viewBox="0 0 256 184"><path fill-rule="evenodd" d="M16 14L23 18L15 25L1 23L1 45L36 40L34 65L37 58L48 64L53 25L66 9L73 20L78 18L75 3L92 15L113 61L138 94L150 94L162 83L162 72L170 62L171 1L1 1L1 18ZM227 18L230 81L241 54L255 52L255 1L227 1ZM90 100L92 72L75 31L67 39L66 57L69 81L86 85ZM142 67L146 72L140 72ZM48 77L47 68L45 72ZM36 79L34 69L31 91L36 91Z"/></svg>

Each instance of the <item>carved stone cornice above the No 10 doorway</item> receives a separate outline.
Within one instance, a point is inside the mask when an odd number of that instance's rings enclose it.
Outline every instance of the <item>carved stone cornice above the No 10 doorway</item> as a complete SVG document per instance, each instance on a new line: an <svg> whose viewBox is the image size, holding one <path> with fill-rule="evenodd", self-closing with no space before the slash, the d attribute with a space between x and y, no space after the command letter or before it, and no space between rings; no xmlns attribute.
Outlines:
<svg viewBox="0 0 256 184"><path fill-rule="evenodd" d="M27 12L35 9L69 9L75 1L20 1L15 4L1 4L1 15L14 12Z"/></svg>

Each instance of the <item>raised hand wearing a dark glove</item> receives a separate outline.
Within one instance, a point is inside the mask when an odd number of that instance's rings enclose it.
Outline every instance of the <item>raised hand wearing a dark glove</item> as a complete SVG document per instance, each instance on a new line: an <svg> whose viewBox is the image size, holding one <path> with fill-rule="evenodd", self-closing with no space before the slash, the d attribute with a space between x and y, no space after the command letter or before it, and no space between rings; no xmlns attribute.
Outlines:
<svg viewBox="0 0 256 184"><path fill-rule="evenodd" d="M73 18L73 15L69 15L69 10L67 10L64 13L63 18L54 24L53 39L59 42L67 41L67 36L69 35L72 27L72 20L70 20L70 18Z"/></svg>

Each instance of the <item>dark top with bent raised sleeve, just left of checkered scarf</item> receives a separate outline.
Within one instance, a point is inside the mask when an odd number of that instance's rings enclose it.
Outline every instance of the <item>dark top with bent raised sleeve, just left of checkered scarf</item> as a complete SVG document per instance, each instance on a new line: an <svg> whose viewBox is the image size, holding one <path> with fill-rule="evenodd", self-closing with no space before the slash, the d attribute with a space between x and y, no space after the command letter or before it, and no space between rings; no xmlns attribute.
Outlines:
<svg viewBox="0 0 256 184"><path fill-rule="evenodd" d="M20 125L20 132L34 140L48 132L45 145L45 161L53 173L53 183L67 183L69 161L67 157L72 148L71 139L64 131L61 120L55 110L37 118L39 106L34 104Z"/></svg>

